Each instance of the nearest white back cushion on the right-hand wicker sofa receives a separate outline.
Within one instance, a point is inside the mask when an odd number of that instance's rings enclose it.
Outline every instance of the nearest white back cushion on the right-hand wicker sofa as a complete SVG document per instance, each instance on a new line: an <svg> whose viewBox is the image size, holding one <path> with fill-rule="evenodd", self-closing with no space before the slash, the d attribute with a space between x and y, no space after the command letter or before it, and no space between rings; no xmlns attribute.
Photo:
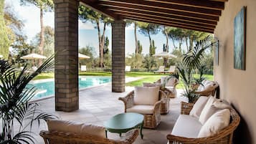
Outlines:
<svg viewBox="0 0 256 144"><path fill-rule="evenodd" d="M214 113L214 115L209 117L209 120L204 123L197 138L209 137L215 133L218 133L220 130L229 125L229 120L229 109L220 110L219 112Z"/></svg>

